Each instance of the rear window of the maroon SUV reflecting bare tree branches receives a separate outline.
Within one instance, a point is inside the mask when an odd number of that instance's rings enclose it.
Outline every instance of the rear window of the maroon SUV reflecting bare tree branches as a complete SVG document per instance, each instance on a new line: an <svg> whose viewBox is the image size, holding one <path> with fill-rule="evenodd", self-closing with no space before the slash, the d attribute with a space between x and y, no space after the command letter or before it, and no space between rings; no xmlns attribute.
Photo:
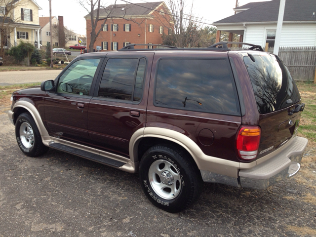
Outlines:
<svg viewBox="0 0 316 237"><path fill-rule="evenodd" d="M276 56L268 54L254 59L255 62L249 56L243 57L260 114L284 109L301 99L288 69Z"/></svg>

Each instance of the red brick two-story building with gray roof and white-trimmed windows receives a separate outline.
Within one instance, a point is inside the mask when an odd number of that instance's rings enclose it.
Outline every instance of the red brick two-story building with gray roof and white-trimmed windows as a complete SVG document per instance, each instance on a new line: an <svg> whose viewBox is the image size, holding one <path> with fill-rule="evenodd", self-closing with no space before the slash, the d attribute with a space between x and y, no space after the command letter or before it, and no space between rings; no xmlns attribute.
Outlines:
<svg viewBox="0 0 316 237"><path fill-rule="evenodd" d="M170 13L163 1L109 5L106 9L100 9L99 18L107 16L106 12L110 9L111 18L104 25L104 20L98 22L96 32L100 28L102 31L94 43L94 49L100 46L102 51L115 51L129 43L161 44L162 35L170 35L174 28ZM90 15L86 15L85 19L87 45L89 45Z"/></svg>

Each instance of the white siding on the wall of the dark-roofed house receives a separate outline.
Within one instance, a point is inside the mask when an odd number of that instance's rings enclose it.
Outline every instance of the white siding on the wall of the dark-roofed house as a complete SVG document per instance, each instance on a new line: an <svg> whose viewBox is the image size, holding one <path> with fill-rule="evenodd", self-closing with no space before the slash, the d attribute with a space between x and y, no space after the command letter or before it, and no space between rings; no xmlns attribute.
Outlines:
<svg viewBox="0 0 316 237"><path fill-rule="evenodd" d="M244 42L265 46L268 30L276 30L276 24L246 25ZM316 24L283 24L280 47L316 46Z"/></svg>

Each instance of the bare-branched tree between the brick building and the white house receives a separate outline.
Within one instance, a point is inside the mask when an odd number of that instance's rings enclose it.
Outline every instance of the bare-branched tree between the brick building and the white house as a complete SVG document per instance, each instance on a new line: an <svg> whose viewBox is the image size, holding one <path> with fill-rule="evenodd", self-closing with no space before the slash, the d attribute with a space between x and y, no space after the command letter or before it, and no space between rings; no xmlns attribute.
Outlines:
<svg viewBox="0 0 316 237"><path fill-rule="evenodd" d="M193 2L190 7L187 6L186 0L167 0L169 6L168 14L165 18L172 17L172 21L167 20L165 27L173 29L171 35L163 35L162 40L167 45L177 47L196 47L200 41L201 35L199 34L200 25L197 17L193 14ZM190 8L189 10L187 10ZM161 22L162 23L162 22Z"/></svg>

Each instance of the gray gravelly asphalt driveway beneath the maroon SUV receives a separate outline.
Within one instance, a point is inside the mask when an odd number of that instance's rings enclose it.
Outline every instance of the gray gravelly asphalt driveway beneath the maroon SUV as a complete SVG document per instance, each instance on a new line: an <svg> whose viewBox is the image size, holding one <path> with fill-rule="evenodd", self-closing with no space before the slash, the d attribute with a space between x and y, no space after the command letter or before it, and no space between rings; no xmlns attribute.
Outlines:
<svg viewBox="0 0 316 237"><path fill-rule="evenodd" d="M205 184L191 208L170 214L137 174L52 149L26 157L5 113L0 127L0 237L316 236L315 165L269 190Z"/></svg>

